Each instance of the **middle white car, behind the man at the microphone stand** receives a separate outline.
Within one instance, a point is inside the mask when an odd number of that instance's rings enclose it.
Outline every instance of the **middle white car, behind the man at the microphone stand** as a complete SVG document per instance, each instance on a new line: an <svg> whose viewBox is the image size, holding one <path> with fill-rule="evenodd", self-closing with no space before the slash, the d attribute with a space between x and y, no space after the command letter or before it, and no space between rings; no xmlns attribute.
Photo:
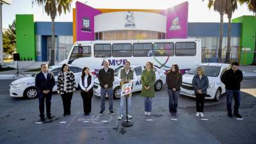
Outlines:
<svg viewBox="0 0 256 144"><path fill-rule="evenodd" d="M124 66L118 67L115 69L115 81L113 82L113 98L114 99L120 99L120 81L118 81L118 73L121 68L124 68ZM132 70L136 73L136 76L138 78L138 81L133 83L132 92L138 92L141 91L141 74L142 71L146 68L143 65L132 65ZM155 90L159 91L163 87L163 84L166 83L166 75L164 74L164 70L161 70L160 68L157 68L154 66L154 71L156 72L156 82L154 84ZM94 95L100 97L100 84L99 79L95 79L94 85L93 85L93 93ZM108 95L106 95L108 97Z"/></svg>

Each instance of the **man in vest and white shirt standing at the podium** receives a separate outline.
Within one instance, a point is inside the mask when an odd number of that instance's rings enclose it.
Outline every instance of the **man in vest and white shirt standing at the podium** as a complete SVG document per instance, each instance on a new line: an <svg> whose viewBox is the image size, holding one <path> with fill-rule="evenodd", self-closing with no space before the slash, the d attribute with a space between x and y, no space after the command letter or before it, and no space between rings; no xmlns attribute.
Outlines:
<svg viewBox="0 0 256 144"><path fill-rule="evenodd" d="M124 68L122 68L119 71L118 81L131 81L132 83L137 81L137 76L136 76L134 70L131 69L130 64L131 63L129 61L125 61ZM122 86L120 86L120 88L122 89ZM129 97L127 97L128 118L132 118L132 115L131 115L132 97L131 96L132 96L132 93L130 93ZM120 96L120 109L118 111L118 120L122 120L122 118L124 117L124 103L125 103L125 97L124 97L124 95L121 95Z"/></svg>

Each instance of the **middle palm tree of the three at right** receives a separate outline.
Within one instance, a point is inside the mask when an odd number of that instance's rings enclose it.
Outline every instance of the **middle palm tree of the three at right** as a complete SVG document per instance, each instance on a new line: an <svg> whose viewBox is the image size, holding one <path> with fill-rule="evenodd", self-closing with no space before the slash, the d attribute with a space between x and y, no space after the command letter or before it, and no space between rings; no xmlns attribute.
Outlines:
<svg viewBox="0 0 256 144"><path fill-rule="evenodd" d="M225 5L225 13L228 15L228 44L225 63L230 63L230 38L231 38L231 19L233 12L237 9L237 0L227 0Z"/></svg>

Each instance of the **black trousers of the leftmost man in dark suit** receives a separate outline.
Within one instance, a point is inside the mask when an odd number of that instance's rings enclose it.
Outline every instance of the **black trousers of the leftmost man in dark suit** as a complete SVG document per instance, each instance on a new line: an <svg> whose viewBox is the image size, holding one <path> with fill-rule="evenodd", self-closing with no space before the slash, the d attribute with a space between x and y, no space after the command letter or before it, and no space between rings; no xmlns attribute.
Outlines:
<svg viewBox="0 0 256 144"><path fill-rule="evenodd" d="M40 117L44 117L44 102L46 105L46 115L51 116L51 99L52 99L52 93L49 92L48 94L45 93L39 93L39 111L40 111Z"/></svg>

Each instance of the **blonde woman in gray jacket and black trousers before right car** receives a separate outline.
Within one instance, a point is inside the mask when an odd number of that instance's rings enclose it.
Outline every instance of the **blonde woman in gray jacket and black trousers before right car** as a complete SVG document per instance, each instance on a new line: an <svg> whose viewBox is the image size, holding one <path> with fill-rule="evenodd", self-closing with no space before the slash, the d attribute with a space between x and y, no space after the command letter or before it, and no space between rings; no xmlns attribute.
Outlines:
<svg viewBox="0 0 256 144"><path fill-rule="evenodd" d="M196 68L196 76L193 77L192 84L196 95L196 116L204 117L204 98L209 80L204 75L204 69L202 67Z"/></svg>

